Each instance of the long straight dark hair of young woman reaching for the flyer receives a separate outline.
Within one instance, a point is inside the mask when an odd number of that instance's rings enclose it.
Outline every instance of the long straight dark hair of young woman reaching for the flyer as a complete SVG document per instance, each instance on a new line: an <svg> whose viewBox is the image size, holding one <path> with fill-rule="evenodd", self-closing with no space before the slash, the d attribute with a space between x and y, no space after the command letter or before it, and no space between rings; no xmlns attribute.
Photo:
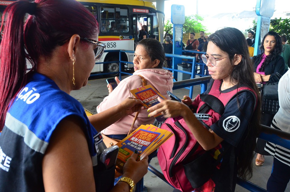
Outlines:
<svg viewBox="0 0 290 192"><path fill-rule="evenodd" d="M246 39L241 31L236 28L224 28L211 34L208 38L218 48L230 55L230 61L233 61L235 54L240 54L242 60L238 65L233 65L230 75L230 81L237 83L237 86L248 86L254 90L258 96L256 108L248 124L244 139L240 140L237 146L237 168L238 175L242 178L253 176L253 151L256 147L256 137L258 136L260 126L260 106L261 99L253 76L253 63L250 60L249 49ZM237 100L238 101L238 100ZM239 107L239 103L237 103ZM240 108L240 107L239 107Z"/></svg>

